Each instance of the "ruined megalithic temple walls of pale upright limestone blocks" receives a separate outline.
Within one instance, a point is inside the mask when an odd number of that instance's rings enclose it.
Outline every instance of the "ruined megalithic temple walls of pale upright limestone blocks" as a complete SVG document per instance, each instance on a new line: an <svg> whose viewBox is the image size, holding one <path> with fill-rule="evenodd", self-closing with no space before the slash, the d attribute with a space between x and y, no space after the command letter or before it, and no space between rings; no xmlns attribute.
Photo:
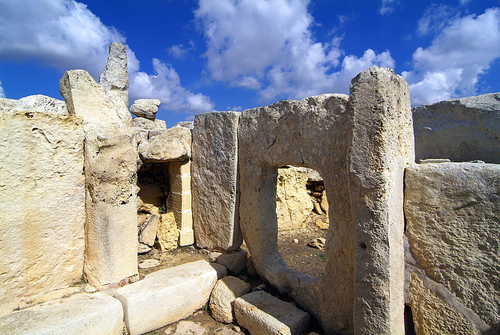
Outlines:
<svg viewBox="0 0 500 335"><path fill-rule="evenodd" d="M182 280L173 270L138 280L137 253L193 245L216 262L251 263L325 334L500 330L499 93L411 109L406 81L372 66L350 95L167 128L159 100L128 113L124 54L111 44L99 82L66 71L64 101L0 98L0 329L20 302L82 276L117 289L124 306L141 281L141 292L159 281L167 292ZM291 269L276 241L313 213L327 229L319 278ZM194 271L196 286L204 266L179 271ZM220 266L199 278L213 287ZM112 308L129 331L143 329Z"/></svg>

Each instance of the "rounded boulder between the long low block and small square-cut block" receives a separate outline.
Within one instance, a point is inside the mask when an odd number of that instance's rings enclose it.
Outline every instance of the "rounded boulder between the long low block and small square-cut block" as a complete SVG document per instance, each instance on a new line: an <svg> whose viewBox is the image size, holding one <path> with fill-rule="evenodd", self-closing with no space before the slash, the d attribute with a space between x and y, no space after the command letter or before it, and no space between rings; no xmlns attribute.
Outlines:
<svg viewBox="0 0 500 335"><path fill-rule="evenodd" d="M250 291L250 285L243 280L226 276L218 280L210 294L211 316L222 323L230 323L234 319L233 301Z"/></svg>

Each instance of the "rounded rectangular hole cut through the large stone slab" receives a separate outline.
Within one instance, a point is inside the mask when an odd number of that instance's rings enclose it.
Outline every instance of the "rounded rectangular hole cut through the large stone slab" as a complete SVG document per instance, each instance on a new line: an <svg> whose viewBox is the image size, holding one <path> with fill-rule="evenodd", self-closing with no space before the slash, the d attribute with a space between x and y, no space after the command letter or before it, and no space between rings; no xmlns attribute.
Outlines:
<svg viewBox="0 0 500 335"><path fill-rule="evenodd" d="M328 202L322 177L307 167L278 167L278 249L292 269L313 278L324 274Z"/></svg>

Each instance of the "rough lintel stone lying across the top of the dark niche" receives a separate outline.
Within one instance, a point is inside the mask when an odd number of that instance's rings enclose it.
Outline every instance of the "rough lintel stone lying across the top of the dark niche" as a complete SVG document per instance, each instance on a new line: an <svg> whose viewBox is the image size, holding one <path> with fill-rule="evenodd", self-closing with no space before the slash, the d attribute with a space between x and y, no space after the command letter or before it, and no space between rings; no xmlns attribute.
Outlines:
<svg viewBox="0 0 500 335"><path fill-rule="evenodd" d="M191 157L191 130L169 128L161 134L140 142L137 147L144 162L186 160Z"/></svg>

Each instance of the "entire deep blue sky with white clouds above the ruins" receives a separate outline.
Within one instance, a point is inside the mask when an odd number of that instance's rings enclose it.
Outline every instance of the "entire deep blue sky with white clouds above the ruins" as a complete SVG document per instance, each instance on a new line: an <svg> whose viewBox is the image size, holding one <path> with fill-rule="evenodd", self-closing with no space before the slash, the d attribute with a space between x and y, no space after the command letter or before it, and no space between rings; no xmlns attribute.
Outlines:
<svg viewBox="0 0 500 335"><path fill-rule="evenodd" d="M94 78L128 48L130 102L167 126L212 110L348 94L393 68L412 105L500 91L499 0L0 0L0 96L61 99L64 70Z"/></svg>

